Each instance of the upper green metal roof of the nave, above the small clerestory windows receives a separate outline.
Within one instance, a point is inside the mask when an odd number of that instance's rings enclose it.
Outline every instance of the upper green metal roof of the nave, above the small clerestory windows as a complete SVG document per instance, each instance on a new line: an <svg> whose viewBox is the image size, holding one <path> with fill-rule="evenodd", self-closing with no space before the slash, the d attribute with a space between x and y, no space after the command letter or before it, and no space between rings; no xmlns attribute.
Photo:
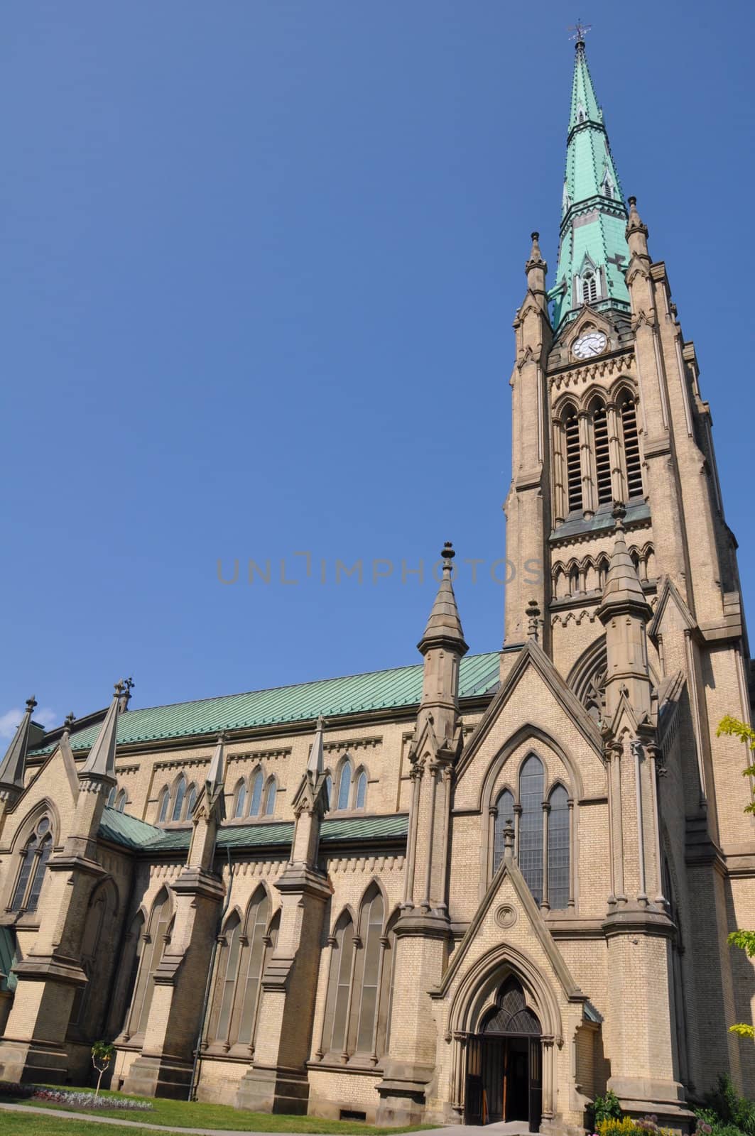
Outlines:
<svg viewBox="0 0 755 1136"><path fill-rule="evenodd" d="M497 651L462 659L459 699L492 692L498 683L498 663ZM332 719L340 715L418 705L422 671L422 663L417 663L390 670L372 670L363 675L347 675L343 678L275 686L247 694L126 710L118 715L117 744L121 746L163 738L216 735L221 730L315 720L320 715ZM97 733L97 726L73 733L72 749L88 750ZM50 744L33 753L49 753L52 749Z"/></svg>

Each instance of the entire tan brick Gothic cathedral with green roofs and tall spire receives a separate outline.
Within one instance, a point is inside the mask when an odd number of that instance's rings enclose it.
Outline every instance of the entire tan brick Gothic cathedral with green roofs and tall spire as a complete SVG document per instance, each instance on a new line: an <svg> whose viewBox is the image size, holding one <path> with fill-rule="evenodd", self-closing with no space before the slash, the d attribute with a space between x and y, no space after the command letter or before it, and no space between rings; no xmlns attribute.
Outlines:
<svg viewBox="0 0 755 1136"><path fill-rule="evenodd" d="M47 733L30 700L0 1079L88 1084L107 1039L126 1093L571 1136L606 1089L679 1131L720 1072L755 1095L737 543L582 37L558 264L534 233L525 273L506 541L544 570L503 649L468 653L447 544L414 665L147 709L119 683Z"/></svg>

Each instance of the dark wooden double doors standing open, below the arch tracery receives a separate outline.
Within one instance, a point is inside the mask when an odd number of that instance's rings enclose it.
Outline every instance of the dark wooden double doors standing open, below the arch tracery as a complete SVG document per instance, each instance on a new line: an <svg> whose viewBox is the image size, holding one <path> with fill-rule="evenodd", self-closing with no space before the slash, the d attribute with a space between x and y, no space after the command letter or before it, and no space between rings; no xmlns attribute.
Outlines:
<svg viewBox="0 0 755 1136"><path fill-rule="evenodd" d="M542 1114L540 1038L486 1033L470 1037L466 1052L465 1122L524 1120L537 1133Z"/></svg>

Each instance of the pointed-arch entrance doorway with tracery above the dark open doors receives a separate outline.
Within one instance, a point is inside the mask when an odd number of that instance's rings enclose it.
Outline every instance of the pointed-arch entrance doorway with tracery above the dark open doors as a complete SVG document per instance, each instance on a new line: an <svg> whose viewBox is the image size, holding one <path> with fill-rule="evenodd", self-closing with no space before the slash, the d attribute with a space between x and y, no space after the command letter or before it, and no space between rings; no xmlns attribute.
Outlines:
<svg viewBox="0 0 755 1136"><path fill-rule="evenodd" d="M520 1120L537 1133L542 1116L540 1022L513 975L501 984L496 1004L466 1047L468 1125Z"/></svg>

